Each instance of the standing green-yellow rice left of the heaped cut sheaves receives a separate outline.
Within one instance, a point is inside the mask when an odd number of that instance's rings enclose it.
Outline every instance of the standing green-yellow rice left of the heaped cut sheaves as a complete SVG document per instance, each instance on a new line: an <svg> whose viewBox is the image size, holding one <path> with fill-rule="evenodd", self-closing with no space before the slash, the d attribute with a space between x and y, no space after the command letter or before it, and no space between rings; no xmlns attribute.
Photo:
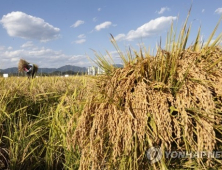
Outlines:
<svg viewBox="0 0 222 170"><path fill-rule="evenodd" d="M0 86L1 168L77 169L79 151L69 136L94 80L10 77L1 78Z"/></svg>

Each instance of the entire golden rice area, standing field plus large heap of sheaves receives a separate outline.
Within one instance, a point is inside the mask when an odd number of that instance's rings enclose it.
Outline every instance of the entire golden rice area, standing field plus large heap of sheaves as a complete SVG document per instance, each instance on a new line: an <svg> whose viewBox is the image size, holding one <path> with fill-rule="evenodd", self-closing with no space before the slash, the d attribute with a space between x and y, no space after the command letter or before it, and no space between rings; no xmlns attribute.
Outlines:
<svg viewBox="0 0 222 170"><path fill-rule="evenodd" d="M155 56L124 55L111 36L124 68L95 52L105 75L0 78L0 169L221 169L221 157L147 154L222 151L220 22L188 46L187 20Z"/></svg>

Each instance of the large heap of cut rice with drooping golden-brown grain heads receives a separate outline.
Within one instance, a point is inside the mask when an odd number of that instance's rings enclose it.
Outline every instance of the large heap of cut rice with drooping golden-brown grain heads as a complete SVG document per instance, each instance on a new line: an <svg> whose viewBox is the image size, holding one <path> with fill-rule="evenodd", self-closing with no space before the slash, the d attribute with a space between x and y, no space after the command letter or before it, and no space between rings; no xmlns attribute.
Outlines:
<svg viewBox="0 0 222 170"><path fill-rule="evenodd" d="M175 163L162 158L150 164L146 157L151 146L162 151L222 149L221 47L182 50L174 74L162 72L157 81L157 65L162 62L165 70L172 55L159 50L156 57L144 58L141 53L136 63L98 80L100 92L83 110L73 136L81 151L80 169L221 166L216 159L194 159L188 165L190 159Z"/></svg>

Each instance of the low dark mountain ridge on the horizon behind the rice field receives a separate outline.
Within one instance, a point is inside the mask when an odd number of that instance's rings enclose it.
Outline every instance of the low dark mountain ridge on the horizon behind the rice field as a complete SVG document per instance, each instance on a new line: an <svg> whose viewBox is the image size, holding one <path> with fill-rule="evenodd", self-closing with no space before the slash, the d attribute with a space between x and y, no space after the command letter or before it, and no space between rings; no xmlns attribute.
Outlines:
<svg viewBox="0 0 222 170"><path fill-rule="evenodd" d="M72 65L65 65L59 68L39 68L38 73L52 73L52 72L86 72L86 67L78 67L78 66L72 66ZM7 69L0 69L1 73L18 73L18 67L12 67Z"/></svg>

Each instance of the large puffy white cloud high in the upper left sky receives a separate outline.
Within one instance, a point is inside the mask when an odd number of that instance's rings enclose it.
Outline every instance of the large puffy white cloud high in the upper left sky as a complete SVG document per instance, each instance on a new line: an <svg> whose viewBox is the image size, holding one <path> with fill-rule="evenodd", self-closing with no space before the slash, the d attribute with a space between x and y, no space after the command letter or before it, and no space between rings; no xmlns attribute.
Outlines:
<svg viewBox="0 0 222 170"><path fill-rule="evenodd" d="M3 15L0 22L11 37L36 39L43 42L59 37L59 28L50 25L41 18L20 11Z"/></svg>

